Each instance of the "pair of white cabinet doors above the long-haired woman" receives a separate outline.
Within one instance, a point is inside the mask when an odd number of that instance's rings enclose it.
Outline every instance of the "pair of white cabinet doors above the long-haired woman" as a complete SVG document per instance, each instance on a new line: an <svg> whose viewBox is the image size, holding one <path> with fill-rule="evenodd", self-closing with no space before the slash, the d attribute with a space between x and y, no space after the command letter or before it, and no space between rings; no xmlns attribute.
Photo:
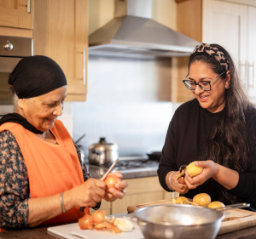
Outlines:
<svg viewBox="0 0 256 239"><path fill-rule="evenodd" d="M230 52L246 93L255 103L256 8L211 0L203 3L203 41L219 43Z"/></svg>

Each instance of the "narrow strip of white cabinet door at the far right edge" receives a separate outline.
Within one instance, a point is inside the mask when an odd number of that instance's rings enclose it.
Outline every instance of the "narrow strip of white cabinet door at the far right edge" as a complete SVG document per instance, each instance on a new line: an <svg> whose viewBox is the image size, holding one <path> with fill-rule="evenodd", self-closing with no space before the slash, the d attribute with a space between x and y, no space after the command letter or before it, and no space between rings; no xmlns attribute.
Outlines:
<svg viewBox="0 0 256 239"><path fill-rule="evenodd" d="M253 103L256 103L256 8L247 7L248 44L247 44L247 89Z"/></svg>

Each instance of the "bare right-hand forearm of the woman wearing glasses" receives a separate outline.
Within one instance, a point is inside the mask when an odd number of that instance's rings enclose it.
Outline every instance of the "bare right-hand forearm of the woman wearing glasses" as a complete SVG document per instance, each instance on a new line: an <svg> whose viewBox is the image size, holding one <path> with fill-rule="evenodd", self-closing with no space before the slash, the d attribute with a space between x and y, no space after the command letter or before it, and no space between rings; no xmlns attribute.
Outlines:
<svg viewBox="0 0 256 239"><path fill-rule="evenodd" d="M227 190L235 188L239 181L238 172L230 168L225 168L218 163L216 163L216 167L217 174L213 175L212 178L220 185L223 185Z"/></svg>

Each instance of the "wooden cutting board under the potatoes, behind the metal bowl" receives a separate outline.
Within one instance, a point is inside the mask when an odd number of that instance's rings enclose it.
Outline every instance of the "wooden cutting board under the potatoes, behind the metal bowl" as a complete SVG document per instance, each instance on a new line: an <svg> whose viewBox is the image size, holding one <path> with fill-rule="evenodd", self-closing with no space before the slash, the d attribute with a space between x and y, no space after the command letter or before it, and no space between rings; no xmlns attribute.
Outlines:
<svg viewBox="0 0 256 239"><path fill-rule="evenodd" d="M172 199L160 200L155 202L148 202L143 204L137 204L129 206L127 208L128 213L134 213L138 208L144 208L159 204L173 204ZM222 221L218 235L228 233L235 230L241 230L256 225L256 213L243 209L231 209L225 211L225 218Z"/></svg>

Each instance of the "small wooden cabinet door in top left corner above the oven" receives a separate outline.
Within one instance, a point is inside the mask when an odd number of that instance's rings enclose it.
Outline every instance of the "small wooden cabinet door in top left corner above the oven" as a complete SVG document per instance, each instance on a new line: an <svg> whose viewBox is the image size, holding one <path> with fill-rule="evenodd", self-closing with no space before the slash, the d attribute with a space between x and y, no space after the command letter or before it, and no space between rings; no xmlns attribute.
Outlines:
<svg viewBox="0 0 256 239"><path fill-rule="evenodd" d="M34 0L0 0L0 26L32 29L33 3Z"/></svg>

